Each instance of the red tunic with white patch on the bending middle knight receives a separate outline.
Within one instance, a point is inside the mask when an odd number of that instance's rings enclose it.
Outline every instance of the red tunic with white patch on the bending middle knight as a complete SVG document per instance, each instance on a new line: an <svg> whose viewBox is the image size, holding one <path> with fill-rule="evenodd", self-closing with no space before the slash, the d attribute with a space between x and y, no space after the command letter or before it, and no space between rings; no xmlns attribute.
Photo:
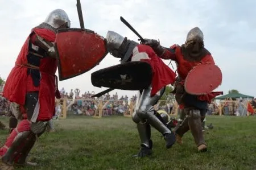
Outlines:
<svg viewBox="0 0 256 170"><path fill-rule="evenodd" d="M151 96L154 96L164 86L173 84L175 81L175 72L164 64L162 59L148 45L137 45L133 49L131 61L145 61L151 65L153 73Z"/></svg>

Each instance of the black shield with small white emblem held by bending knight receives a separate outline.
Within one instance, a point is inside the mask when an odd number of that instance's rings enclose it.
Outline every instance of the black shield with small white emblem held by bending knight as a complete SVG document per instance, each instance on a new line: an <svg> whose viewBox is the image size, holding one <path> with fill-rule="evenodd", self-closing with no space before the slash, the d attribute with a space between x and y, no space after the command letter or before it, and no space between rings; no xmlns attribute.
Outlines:
<svg viewBox="0 0 256 170"><path fill-rule="evenodd" d="M114 65L92 73L92 84L121 90L142 90L150 86L152 69L143 61Z"/></svg>

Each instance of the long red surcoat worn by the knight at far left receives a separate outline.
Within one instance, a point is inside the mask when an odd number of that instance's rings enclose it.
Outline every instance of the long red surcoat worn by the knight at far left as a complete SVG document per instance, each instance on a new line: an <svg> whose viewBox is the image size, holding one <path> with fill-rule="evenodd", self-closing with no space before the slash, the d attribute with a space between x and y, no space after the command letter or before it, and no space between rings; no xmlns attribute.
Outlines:
<svg viewBox="0 0 256 170"><path fill-rule="evenodd" d="M55 33L42 29L34 28L28 36L26 42L16 59L15 66L11 70L5 87L3 96L10 102L16 102L24 105L27 92L39 91L39 115L37 121L48 121L55 112L55 72L57 70L57 61L51 57L40 59L40 85L35 87L32 83L32 77L27 73L28 68L20 65L27 64L28 45L33 35L39 35L48 42L54 42Z"/></svg>

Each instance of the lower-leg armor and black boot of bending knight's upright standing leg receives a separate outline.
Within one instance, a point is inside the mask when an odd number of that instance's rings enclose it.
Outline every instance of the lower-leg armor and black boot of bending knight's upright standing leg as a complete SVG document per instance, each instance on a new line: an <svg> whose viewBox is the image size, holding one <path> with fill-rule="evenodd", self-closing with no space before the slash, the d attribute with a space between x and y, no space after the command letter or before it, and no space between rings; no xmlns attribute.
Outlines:
<svg viewBox="0 0 256 170"><path fill-rule="evenodd" d="M137 123L137 128L139 131L139 138L141 139L141 150L137 155L133 157L145 157L152 154L153 142L151 138L151 128L148 122L139 122Z"/></svg>

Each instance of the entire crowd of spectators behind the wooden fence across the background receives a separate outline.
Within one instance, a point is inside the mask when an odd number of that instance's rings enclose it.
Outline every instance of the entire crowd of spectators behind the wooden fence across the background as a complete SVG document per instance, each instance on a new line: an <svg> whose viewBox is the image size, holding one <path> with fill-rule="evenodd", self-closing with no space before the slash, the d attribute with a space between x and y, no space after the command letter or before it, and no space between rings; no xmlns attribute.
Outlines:
<svg viewBox="0 0 256 170"><path fill-rule="evenodd" d="M132 97L121 96L118 97L118 94L115 93L110 95L109 93L104 94L100 98L91 98L95 93L94 92L85 92L81 93L80 89L71 89L69 92L66 92L64 88L60 90L61 99L56 99L55 107L55 118L58 119L63 110L63 102L66 102L67 113L75 115L87 115L92 116L96 114L98 106L102 105L102 116L110 115L123 115L127 114L130 111L130 103L135 104L137 95ZM253 99L253 108L255 109L256 99ZM250 101L249 101L250 102ZM209 104L208 115L219 115L220 108L222 115L236 115L236 116L245 116L247 115L247 99L230 99L227 98L221 103L212 102ZM220 104L222 107L219 107ZM175 114L177 106L174 105L174 101L162 103L156 110L162 109L165 110L168 114ZM7 101L0 94L0 115L9 114L9 101Z"/></svg>

